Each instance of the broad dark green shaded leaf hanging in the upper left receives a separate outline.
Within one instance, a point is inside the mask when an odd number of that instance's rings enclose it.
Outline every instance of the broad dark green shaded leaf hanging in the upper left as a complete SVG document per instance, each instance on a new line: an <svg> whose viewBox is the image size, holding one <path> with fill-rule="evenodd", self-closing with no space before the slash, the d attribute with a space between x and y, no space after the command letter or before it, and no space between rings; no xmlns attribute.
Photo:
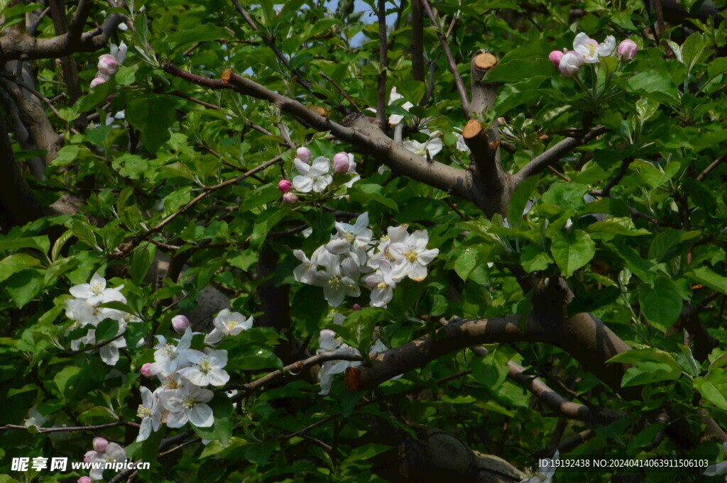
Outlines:
<svg viewBox="0 0 727 483"><path fill-rule="evenodd" d="M172 137L169 128L176 120L174 100L169 96L142 97L126 105L126 121L139 129L141 139L152 155Z"/></svg>

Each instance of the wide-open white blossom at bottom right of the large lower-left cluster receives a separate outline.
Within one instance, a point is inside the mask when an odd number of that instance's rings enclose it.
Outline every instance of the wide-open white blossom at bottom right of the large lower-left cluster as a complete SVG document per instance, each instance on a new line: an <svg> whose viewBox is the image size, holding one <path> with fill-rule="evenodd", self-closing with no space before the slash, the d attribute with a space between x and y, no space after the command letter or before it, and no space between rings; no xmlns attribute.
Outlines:
<svg viewBox="0 0 727 483"><path fill-rule="evenodd" d="M161 404L169 410L166 426L181 428L188 421L201 428L212 426L212 407L206 403L212 401L213 395L209 389L201 389L188 381L182 381L179 389L161 391Z"/></svg>

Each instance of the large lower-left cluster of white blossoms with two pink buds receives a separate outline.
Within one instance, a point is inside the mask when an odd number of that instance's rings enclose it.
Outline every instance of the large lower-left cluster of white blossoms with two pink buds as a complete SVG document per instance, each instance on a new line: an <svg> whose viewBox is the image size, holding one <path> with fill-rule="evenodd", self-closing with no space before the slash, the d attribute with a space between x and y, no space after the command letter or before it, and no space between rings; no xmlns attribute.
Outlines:
<svg viewBox="0 0 727 483"><path fill-rule="evenodd" d="M158 431L161 423L169 428L181 428L188 422L203 428L212 426L212 407L207 403L214 394L205 388L221 387L230 380L225 371L228 353L215 350L214 344L251 328L252 322L252 317L245 319L238 312L222 310L214 317L214 328L204 338L208 347L202 352L190 348L194 333L187 318L174 317L172 327L177 332L184 330L182 337L167 341L164 336L156 336L154 362L141 368L142 376L156 376L161 386L153 392L141 387L142 404L137 415L142 421L137 441L144 441L151 431Z"/></svg>

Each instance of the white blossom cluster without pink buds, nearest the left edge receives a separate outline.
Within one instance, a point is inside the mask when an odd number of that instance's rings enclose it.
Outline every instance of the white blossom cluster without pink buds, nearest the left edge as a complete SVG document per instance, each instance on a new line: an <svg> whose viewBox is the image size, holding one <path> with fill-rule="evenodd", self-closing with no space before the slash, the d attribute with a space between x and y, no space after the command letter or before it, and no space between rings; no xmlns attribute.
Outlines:
<svg viewBox="0 0 727 483"><path fill-rule="evenodd" d="M140 322L140 319L132 314L128 314L118 309L110 309L108 307L99 307L101 304L117 301L126 304L126 297L121 293L124 285L116 288L108 288L106 280L97 273L91 278L90 283L82 283L71 287L71 295L75 299L65 302L65 315L74 323L68 328L71 330L91 325L85 336L71 341L71 349L79 350L81 344L95 345L96 328L102 320L113 319L119 322L119 331L116 337L108 344L104 344L99 349L101 360L108 365L115 365L119 360L119 349L126 347L126 340L123 335L126 331L126 324L129 322Z"/></svg>

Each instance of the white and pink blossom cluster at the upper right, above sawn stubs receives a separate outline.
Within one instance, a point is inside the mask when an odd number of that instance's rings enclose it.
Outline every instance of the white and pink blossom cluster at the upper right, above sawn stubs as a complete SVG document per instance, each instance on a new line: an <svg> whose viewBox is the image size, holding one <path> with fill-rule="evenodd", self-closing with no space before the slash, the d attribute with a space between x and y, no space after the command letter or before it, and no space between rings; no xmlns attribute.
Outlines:
<svg viewBox="0 0 727 483"><path fill-rule="evenodd" d="M563 52L554 50L548 59L553 62L563 76L573 76L578 73L583 64L597 64L601 57L610 57L616 53L620 59L631 60L636 55L638 47L629 38L616 47L614 36L606 37L600 44L585 33L579 33L573 41L573 50L563 49Z"/></svg>

